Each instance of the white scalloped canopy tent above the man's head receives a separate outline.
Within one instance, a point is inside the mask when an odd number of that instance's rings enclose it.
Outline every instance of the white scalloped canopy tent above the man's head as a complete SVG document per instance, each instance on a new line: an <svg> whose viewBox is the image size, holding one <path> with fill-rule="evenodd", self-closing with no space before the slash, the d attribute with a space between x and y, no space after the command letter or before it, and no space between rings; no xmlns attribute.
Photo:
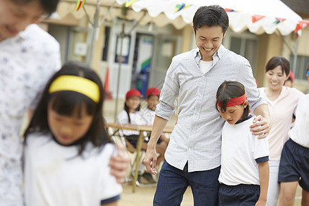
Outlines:
<svg viewBox="0 0 309 206"><path fill-rule="evenodd" d="M229 27L234 32L249 30L255 34L272 34L278 30L283 36L296 28L301 17L279 0L116 0L117 3L133 3L135 12L147 10L152 19L141 23L154 22L164 26L172 23L176 29L192 24L196 10L202 5L221 5L229 15ZM127 3L127 4L128 4ZM179 8L183 7L181 10ZM179 10L179 11L178 11ZM129 16L128 16L129 17ZM261 18L258 20L259 18ZM133 17L134 18L134 17ZM253 23L253 20L258 20ZM148 21L148 22L147 22Z"/></svg>

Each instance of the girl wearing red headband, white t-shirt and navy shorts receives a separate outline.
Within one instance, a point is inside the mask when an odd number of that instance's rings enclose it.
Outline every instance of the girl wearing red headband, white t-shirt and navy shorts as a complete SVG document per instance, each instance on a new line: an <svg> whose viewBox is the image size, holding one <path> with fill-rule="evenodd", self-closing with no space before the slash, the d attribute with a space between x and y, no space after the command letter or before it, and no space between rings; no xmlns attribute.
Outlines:
<svg viewBox="0 0 309 206"><path fill-rule="evenodd" d="M225 119L222 128L219 205L266 205L268 141L252 135L244 85L225 81L216 94L216 109Z"/></svg>

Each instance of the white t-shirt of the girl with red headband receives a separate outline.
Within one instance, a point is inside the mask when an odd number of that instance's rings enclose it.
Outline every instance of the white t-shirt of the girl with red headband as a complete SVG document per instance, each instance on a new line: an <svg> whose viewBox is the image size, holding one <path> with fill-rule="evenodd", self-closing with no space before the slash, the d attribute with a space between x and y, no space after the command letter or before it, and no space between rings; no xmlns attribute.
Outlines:
<svg viewBox="0 0 309 206"><path fill-rule="evenodd" d="M269 155L268 139L252 135L253 117L239 124L225 122L222 128L220 183L260 185L257 159Z"/></svg>

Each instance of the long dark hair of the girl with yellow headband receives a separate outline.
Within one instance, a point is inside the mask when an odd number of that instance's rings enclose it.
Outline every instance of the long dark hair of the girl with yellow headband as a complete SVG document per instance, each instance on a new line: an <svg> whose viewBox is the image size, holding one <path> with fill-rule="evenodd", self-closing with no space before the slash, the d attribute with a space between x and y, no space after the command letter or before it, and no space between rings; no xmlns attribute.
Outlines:
<svg viewBox="0 0 309 206"><path fill-rule="evenodd" d="M54 82L59 76L63 75L80 76L98 84L100 89L99 102L95 103L86 95L75 91L56 91L54 93L49 93L49 87L52 82ZM60 115L71 116L76 110L78 113L81 113L84 106L86 106L87 113L93 115L93 122L91 123L89 130L84 137L76 141L76 144L79 146L78 155L82 155L82 152L89 141L95 147L103 147L106 143L111 143L111 138L104 127L104 118L102 114L103 97L104 91L102 82L97 73L80 62L68 62L47 82L30 124L25 130L24 137L27 138L27 135L30 135L30 133L33 132L42 134L52 133L47 122L47 106L50 103L52 104L52 109Z"/></svg>

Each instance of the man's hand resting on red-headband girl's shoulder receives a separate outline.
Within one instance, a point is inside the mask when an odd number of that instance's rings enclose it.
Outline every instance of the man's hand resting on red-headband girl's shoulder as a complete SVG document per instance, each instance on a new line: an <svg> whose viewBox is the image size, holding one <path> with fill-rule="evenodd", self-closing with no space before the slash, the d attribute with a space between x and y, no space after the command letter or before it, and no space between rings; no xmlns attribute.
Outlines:
<svg viewBox="0 0 309 206"><path fill-rule="evenodd" d="M254 117L253 124L250 126L253 135L258 135L259 139L267 137L271 130L271 121L258 115Z"/></svg>

